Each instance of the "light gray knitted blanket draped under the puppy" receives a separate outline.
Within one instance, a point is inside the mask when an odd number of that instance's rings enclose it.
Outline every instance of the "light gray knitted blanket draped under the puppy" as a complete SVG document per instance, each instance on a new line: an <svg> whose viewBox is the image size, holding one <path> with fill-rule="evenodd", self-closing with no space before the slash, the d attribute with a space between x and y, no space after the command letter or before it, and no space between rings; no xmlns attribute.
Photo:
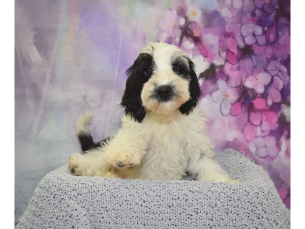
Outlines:
<svg viewBox="0 0 305 229"><path fill-rule="evenodd" d="M216 154L241 184L46 175L16 228L290 228L290 211L261 166Z"/></svg>

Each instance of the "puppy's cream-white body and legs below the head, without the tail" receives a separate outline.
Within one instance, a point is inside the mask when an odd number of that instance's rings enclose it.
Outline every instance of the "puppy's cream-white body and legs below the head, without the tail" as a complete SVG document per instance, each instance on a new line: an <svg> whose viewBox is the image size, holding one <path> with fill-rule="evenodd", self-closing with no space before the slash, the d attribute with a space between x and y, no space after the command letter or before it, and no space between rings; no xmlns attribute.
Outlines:
<svg viewBox="0 0 305 229"><path fill-rule="evenodd" d="M77 175L149 180L179 180L186 170L202 181L236 182L212 159L213 146L199 107L189 116L148 112L142 123L124 116L122 128L103 148L70 157ZM117 164L128 167L118 170ZM132 164L133 163L133 164ZM132 164L131 167L130 164ZM109 174L108 174L109 175Z"/></svg>

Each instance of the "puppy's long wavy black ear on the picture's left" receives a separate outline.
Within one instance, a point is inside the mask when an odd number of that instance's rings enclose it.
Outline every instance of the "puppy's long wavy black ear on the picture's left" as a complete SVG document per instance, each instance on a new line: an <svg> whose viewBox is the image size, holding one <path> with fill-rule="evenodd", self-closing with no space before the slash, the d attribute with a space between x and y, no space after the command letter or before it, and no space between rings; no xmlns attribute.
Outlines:
<svg viewBox="0 0 305 229"><path fill-rule="evenodd" d="M141 91L143 84L137 79L135 72L136 61L127 71L128 79L126 81L126 88L120 103L125 107L125 114L130 116L135 121L141 123L145 117L145 109L141 101Z"/></svg>

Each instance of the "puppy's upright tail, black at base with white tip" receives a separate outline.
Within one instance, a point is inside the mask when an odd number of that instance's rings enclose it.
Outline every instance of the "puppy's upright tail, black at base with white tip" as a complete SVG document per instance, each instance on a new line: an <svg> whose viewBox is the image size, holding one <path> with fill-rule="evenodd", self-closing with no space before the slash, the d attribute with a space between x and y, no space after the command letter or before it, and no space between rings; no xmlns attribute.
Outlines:
<svg viewBox="0 0 305 229"><path fill-rule="evenodd" d="M93 118L92 113L88 110L81 113L76 121L76 134L82 151L90 150L91 148L97 148L98 145L93 141L88 125Z"/></svg>

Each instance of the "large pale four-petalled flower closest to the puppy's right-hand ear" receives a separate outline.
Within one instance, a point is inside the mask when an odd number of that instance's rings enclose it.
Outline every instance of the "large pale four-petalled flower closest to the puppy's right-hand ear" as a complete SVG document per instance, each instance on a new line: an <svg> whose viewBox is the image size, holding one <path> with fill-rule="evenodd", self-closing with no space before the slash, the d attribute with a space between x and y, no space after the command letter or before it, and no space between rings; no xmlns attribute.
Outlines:
<svg viewBox="0 0 305 229"><path fill-rule="evenodd" d="M212 99L220 103L220 111L223 116L230 113L231 104L237 100L237 92L235 89L229 88L226 81L218 80L218 91L212 93Z"/></svg>

